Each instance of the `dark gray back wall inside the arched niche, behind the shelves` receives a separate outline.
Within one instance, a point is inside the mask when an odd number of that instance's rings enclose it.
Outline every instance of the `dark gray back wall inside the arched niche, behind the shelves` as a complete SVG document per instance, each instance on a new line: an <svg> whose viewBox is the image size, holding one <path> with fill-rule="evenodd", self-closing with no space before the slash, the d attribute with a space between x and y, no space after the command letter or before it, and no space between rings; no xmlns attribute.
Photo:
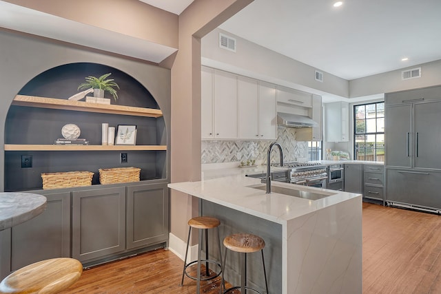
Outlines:
<svg viewBox="0 0 441 294"><path fill-rule="evenodd" d="M18 94L67 99L80 91L77 87L85 76L101 76L111 72L120 90L113 105L159 109L154 97L135 78L114 67L95 63L72 63L54 67L32 78ZM12 105L5 124L6 144L53 144L63 138L61 128L74 123L81 129L80 138L90 145L101 145L101 123L110 127L136 125L136 145L166 145L163 117L149 118L117 114L76 112ZM139 167L141 180L166 178L167 151L5 151L5 191L41 189L41 173L58 171L92 171L92 185L99 184L99 169ZM127 163L121 163L121 153L127 153ZM21 157L32 156L32 167L21 167Z"/></svg>

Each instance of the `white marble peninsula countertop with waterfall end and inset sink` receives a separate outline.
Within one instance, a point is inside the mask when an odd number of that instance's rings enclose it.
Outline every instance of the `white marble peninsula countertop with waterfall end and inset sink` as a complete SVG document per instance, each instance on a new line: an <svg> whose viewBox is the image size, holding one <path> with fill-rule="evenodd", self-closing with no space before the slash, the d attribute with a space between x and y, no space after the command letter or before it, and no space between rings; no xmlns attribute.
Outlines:
<svg viewBox="0 0 441 294"><path fill-rule="evenodd" d="M273 185L328 197L307 200L267 194L250 187L260 185L260 180L245 177L261 171L266 167L204 169L203 180L168 187L281 224L282 286L278 293L361 293L362 196L280 182Z"/></svg>

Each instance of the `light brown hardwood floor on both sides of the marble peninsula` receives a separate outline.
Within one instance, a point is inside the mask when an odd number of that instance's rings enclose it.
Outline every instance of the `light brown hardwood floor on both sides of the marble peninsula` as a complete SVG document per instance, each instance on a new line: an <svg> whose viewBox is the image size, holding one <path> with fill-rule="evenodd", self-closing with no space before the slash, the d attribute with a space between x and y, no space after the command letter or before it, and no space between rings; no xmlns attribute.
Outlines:
<svg viewBox="0 0 441 294"><path fill-rule="evenodd" d="M441 293L441 216L363 203L362 260L364 294ZM178 286L182 266L158 249L85 270L63 294L196 293L187 277ZM202 285L218 293L219 279Z"/></svg>

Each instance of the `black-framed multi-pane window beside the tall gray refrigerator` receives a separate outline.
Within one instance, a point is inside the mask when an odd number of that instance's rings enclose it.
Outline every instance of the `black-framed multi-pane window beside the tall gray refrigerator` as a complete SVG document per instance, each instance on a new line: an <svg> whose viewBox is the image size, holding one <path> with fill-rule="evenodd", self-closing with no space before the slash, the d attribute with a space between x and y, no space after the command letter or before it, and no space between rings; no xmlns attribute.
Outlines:
<svg viewBox="0 0 441 294"><path fill-rule="evenodd" d="M354 159L384 161L384 102L353 107Z"/></svg>

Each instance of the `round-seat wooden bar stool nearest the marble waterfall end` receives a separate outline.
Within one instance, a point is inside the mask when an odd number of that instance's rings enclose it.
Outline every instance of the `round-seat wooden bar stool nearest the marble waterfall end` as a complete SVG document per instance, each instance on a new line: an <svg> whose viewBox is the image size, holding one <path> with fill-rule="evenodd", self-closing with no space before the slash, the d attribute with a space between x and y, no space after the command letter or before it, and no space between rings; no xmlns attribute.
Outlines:
<svg viewBox="0 0 441 294"><path fill-rule="evenodd" d="M268 282L267 282L267 271L265 269L265 259L263 258L263 248L265 248L265 241L257 235L252 235L248 233L238 233L234 235L229 235L223 240L225 246L225 254L223 259L223 269L222 269L222 282L220 283L220 291L222 287L225 288L224 271L225 263L227 262L227 251L240 253L240 286L234 286L232 288L226 289L223 293L228 293L234 289L240 288L240 293L247 293L247 290L260 293L254 288L247 286L247 253L252 253L259 251L262 252L262 264L263 264L263 275L265 276L265 288L268 294ZM221 292L222 293L222 292Z"/></svg>

